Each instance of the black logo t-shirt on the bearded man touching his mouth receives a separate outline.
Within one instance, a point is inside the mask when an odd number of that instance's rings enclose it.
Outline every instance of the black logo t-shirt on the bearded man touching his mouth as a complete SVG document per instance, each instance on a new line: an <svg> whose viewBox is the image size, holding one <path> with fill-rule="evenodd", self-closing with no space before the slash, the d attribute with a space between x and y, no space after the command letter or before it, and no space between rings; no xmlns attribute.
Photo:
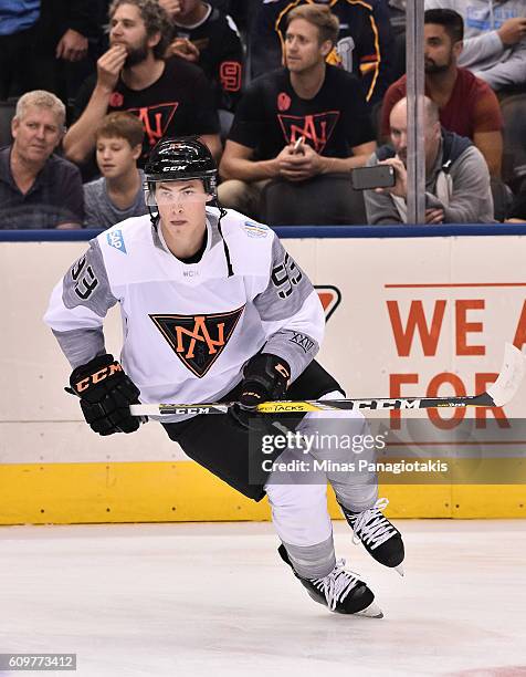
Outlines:
<svg viewBox="0 0 526 677"><path fill-rule="evenodd" d="M83 84L75 102L76 118L87 106L95 83L96 76L92 76ZM108 113L114 111L134 113L143 123L145 140L139 167L165 136L219 133L211 85L200 67L179 56L168 59L162 75L144 90L130 90L119 77L107 108Z"/></svg>

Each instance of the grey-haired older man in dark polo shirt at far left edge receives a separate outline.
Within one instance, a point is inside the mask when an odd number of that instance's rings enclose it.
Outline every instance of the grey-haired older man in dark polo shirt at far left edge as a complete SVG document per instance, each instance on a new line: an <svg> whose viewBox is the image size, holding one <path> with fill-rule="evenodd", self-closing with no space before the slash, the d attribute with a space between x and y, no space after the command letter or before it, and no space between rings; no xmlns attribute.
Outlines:
<svg viewBox="0 0 526 677"><path fill-rule="evenodd" d="M84 200L78 169L53 155L64 134L65 106L36 90L19 98L13 143L0 150L1 228L80 228Z"/></svg>

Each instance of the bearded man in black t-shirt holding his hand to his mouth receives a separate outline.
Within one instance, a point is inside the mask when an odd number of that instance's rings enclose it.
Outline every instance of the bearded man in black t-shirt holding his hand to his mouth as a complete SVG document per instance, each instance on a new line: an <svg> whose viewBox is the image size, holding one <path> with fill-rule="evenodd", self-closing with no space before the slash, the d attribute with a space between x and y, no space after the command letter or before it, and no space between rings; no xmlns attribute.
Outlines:
<svg viewBox="0 0 526 677"><path fill-rule="evenodd" d="M221 153L219 121L203 72L173 56L165 61L171 28L155 0L114 0L109 7L109 49L97 62L96 76L78 93L77 121L64 138L75 163L92 158L95 129L113 111L128 111L145 128L144 166L164 136L199 135L215 157Z"/></svg>

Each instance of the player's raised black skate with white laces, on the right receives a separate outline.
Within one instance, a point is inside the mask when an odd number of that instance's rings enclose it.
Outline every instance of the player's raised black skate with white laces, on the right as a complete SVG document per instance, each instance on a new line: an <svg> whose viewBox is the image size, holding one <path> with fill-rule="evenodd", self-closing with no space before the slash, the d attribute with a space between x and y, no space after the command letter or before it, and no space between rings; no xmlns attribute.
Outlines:
<svg viewBox="0 0 526 677"><path fill-rule="evenodd" d="M353 529L353 542L359 543L361 541L367 552L377 562L396 569L403 576L404 550L402 535L381 513L388 503L388 499L378 499L372 508L362 512L353 512L348 508L344 508L341 503L339 507Z"/></svg>

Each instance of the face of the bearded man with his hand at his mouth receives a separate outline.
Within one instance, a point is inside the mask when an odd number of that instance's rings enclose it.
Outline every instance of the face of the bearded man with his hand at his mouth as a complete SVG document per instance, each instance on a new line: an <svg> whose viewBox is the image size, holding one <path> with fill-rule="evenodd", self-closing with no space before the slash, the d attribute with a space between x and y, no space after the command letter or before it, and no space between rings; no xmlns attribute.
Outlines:
<svg viewBox="0 0 526 677"><path fill-rule="evenodd" d="M128 52L126 66L140 63L148 55L148 50L157 42L159 37L148 38L145 22L138 7L135 4L120 4L109 21L109 44L123 44Z"/></svg>

